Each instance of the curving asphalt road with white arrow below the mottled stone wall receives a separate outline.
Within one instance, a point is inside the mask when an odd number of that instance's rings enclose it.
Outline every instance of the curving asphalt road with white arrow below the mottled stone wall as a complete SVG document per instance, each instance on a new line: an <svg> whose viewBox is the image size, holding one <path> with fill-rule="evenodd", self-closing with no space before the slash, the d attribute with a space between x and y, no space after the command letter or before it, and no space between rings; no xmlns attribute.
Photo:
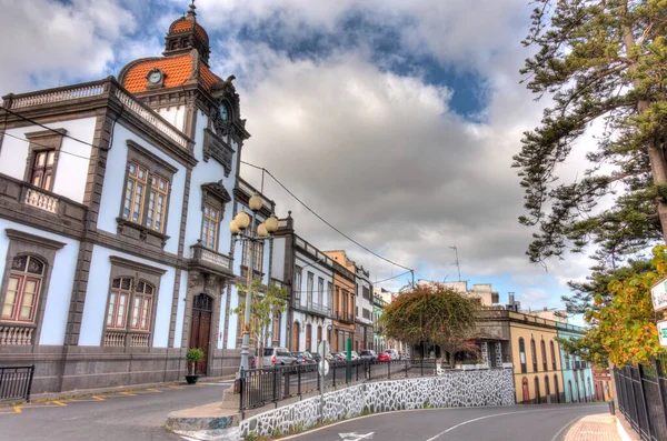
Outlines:
<svg viewBox="0 0 667 441"><path fill-rule="evenodd" d="M295 441L557 441L607 404L514 405L378 413L288 438Z"/></svg>

